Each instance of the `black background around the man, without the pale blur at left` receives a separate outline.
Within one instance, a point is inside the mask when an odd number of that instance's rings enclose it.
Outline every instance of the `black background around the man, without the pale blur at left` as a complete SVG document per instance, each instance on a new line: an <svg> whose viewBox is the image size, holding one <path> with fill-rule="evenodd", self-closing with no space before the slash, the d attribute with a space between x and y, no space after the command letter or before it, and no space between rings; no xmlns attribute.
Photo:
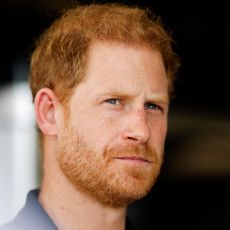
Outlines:
<svg viewBox="0 0 230 230"><path fill-rule="evenodd" d="M130 207L129 216L138 229L230 229L227 1L122 2L149 7L160 15L182 61L162 173L150 194ZM73 4L0 2L0 86L27 79L27 75L15 79L14 67L28 66L35 39L61 9Z"/></svg>

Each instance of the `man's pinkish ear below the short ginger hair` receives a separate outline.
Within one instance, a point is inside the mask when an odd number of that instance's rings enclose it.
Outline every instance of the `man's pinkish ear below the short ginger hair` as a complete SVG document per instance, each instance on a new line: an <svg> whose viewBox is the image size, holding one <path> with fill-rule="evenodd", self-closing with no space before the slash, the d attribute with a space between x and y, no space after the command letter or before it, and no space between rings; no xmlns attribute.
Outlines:
<svg viewBox="0 0 230 230"><path fill-rule="evenodd" d="M58 105L59 101L51 89L42 88L38 91L34 101L35 117L38 127L45 135L57 134Z"/></svg>

